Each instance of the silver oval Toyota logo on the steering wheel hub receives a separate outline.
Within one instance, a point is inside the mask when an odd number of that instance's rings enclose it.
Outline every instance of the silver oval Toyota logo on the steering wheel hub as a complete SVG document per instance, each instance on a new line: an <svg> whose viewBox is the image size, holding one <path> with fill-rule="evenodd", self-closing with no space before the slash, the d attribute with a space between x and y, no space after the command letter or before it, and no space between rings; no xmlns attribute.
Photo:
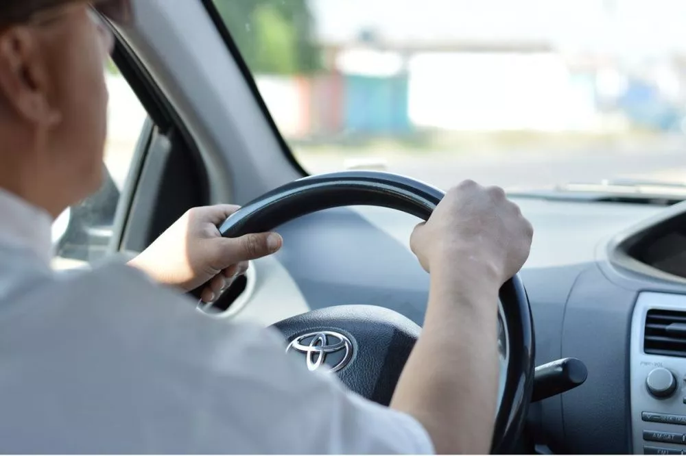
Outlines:
<svg viewBox="0 0 686 456"><path fill-rule="evenodd" d="M317 370L327 357L329 359L329 371L341 370L350 362L353 356L353 344L346 336L334 331L317 331L298 336L286 347L286 351L295 350L305 353L307 368Z"/></svg>

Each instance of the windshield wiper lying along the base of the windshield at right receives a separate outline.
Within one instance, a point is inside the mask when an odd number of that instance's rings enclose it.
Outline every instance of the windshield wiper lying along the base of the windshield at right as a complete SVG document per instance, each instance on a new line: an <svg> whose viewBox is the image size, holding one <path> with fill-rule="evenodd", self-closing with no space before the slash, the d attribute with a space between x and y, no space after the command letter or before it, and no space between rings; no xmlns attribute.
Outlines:
<svg viewBox="0 0 686 456"><path fill-rule="evenodd" d="M686 183L641 179L604 179L598 183L571 182L552 188L523 191L510 189L510 196L567 201L606 201L673 205L686 200Z"/></svg>

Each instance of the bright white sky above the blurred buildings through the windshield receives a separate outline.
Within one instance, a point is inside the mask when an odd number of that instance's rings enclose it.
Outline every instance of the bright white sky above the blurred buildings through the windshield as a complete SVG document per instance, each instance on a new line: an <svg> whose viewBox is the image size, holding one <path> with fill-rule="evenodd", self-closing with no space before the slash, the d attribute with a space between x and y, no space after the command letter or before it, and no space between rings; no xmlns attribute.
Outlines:
<svg viewBox="0 0 686 456"><path fill-rule="evenodd" d="M325 42L549 42L569 51L686 53L686 0L310 0Z"/></svg>

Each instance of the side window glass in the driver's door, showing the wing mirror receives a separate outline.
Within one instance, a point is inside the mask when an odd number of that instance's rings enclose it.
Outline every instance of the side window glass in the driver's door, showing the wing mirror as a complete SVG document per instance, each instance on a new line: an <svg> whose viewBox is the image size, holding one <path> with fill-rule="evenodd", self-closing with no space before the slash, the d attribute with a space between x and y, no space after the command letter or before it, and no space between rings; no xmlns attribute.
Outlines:
<svg viewBox="0 0 686 456"><path fill-rule="evenodd" d="M106 79L110 101L103 186L88 199L69 207L55 220L53 266L56 269L82 266L106 255L113 236L119 197L147 118L126 79L111 63Z"/></svg>

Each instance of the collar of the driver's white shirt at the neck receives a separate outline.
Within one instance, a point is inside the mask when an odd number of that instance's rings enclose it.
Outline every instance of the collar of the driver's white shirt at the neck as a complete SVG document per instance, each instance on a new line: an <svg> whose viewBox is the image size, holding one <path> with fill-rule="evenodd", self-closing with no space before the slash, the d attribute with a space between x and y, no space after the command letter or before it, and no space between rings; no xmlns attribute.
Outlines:
<svg viewBox="0 0 686 456"><path fill-rule="evenodd" d="M0 243L29 249L50 265L53 256L52 217L0 188Z"/></svg>

